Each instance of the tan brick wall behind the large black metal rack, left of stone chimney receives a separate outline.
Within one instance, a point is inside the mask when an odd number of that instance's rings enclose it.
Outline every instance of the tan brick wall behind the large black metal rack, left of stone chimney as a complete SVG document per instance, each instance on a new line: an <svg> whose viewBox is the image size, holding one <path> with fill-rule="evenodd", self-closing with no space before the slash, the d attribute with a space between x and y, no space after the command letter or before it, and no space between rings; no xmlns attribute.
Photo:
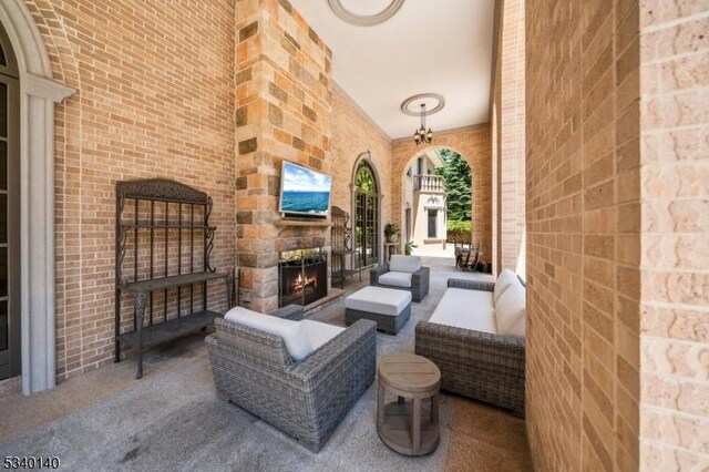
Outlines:
<svg viewBox="0 0 709 472"><path fill-rule="evenodd" d="M167 177L207 192L213 260L234 266L233 2L27 0L54 79L56 373L113 356L115 182ZM223 309L222 286L210 304Z"/></svg>

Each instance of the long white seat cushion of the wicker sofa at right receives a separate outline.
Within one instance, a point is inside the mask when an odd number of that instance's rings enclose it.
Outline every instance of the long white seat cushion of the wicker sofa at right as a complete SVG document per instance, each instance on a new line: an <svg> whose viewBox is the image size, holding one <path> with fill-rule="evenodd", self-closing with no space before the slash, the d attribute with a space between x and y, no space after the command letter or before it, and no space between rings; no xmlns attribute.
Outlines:
<svg viewBox="0 0 709 472"><path fill-rule="evenodd" d="M429 322L496 335L492 293L448 288Z"/></svg>

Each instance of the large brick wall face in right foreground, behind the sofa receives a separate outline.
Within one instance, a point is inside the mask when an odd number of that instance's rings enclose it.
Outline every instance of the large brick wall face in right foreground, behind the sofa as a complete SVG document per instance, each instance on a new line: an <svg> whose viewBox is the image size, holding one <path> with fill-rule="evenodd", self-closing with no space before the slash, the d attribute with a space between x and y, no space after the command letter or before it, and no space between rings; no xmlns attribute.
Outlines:
<svg viewBox="0 0 709 472"><path fill-rule="evenodd" d="M526 393L538 470L638 466L637 4L526 3Z"/></svg>

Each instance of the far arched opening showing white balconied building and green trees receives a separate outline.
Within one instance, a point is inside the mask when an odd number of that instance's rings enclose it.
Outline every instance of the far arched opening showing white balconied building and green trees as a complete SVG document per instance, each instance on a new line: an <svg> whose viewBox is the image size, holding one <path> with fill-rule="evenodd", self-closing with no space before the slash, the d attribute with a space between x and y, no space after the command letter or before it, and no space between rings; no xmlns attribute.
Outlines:
<svg viewBox="0 0 709 472"><path fill-rule="evenodd" d="M414 155L403 173L404 252L455 257L472 240L472 170L455 150L438 146Z"/></svg>

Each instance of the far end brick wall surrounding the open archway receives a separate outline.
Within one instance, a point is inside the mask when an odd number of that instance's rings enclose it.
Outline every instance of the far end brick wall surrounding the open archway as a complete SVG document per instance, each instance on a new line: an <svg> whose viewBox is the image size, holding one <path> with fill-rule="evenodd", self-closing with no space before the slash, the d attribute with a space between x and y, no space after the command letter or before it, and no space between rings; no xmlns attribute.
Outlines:
<svg viewBox="0 0 709 472"><path fill-rule="evenodd" d="M492 261L492 154L490 126L439 132L428 147L417 147L413 138L397 140L391 145L391 220L404 227L402 187L407 168L429 150L456 151L473 173L473 242L480 243L482 260Z"/></svg>

